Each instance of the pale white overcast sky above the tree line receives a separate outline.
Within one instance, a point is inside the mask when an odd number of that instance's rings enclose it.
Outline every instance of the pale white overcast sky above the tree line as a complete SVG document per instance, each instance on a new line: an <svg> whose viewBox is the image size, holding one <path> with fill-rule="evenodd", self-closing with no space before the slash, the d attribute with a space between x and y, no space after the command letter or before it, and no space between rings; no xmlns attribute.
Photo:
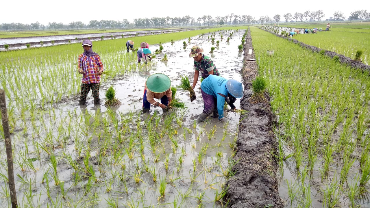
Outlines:
<svg viewBox="0 0 370 208"><path fill-rule="evenodd" d="M129 6L131 2L133 6ZM345 2L345 1L343 1ZM251 15L256 19L268 15L271 19L280 14L284 20L285 13L302 13L305 10L323 10L323 20L333 16L334 11L342 11L347 18L351 11L370 9L369 0L347 1L310 0L310 1L277 1L277 0L138 0L138 1L102 1L102 0L4 0L1 2L0 23L30 24L39 21L47 25L49 22L72 21L88 23L90 20L122 20L145 17L201 17L203 15L225 16ZM140 6L142 5L142 6Z"/></svg>

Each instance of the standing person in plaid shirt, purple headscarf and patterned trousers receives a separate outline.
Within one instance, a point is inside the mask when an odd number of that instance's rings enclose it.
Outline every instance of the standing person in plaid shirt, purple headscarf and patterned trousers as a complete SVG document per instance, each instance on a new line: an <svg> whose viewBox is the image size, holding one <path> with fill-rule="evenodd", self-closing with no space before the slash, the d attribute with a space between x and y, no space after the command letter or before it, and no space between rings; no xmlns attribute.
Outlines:
<svg viewBox="0 0 370 208"><path fill-rule="evenodd" d="M81 81L81 97L80 105L86 103L87 94L92 91L94 104L100 103L100 74L104 71L99 54L92 51L92 43L90 40L84 40L82 43L84 53L78 56L78 73L83 74Z"/></svg>

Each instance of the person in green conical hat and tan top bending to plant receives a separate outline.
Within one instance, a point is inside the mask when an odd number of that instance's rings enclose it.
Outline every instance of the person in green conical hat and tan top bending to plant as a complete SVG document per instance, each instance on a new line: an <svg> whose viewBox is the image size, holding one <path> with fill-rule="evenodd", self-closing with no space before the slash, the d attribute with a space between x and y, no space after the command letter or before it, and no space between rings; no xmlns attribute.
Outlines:
<svg viewBox="0 0 370 208"><path fill-rule="evenodd" d="M154 100L161 99L161 103ZM171 80L165 74L152 74L145 81L144 98L142 101L142 112L148 113L150 104L159 106L163 112L168 111L168 104L172 101Z"/></svg>

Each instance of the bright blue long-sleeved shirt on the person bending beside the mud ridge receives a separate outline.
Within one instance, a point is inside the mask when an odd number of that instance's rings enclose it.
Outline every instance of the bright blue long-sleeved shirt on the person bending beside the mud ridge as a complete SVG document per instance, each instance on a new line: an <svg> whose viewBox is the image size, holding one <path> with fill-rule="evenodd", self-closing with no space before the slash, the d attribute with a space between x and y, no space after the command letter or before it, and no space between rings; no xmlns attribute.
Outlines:
<svg viewBox="0 0 370 208"><path fill-rule="evenodd" d="M223 117L223 105L225 105L225 98L228 96L228 90L226 89L227 81L223 77L210 74L201 83L203 92L213 95L217 100L218 119Z"/></svg>

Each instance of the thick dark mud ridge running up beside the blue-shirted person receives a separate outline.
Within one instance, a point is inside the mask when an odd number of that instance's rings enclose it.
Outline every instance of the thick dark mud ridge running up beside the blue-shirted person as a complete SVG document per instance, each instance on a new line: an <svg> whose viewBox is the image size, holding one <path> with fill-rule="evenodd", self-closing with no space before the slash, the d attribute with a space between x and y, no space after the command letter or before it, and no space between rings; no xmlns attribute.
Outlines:
<svg viewBox="0 0 370 208"><path fill-rule="evenodd" d="M233 167L236 173L226 182L228 192L225 197L230 200L231 208L263 208L268 204L282 208L276 179L277 162L273 156L277 151L277 143L271 131L275 117L269 102L248 102L252 95L252 80L258 75L250 30L243 49L242 76L245 89L240 108L248 113L240 118L234 157L237 162ZM252 50L251 55L248 54L249 49ZM265 96L269 101L268 93Z"/></svg>

